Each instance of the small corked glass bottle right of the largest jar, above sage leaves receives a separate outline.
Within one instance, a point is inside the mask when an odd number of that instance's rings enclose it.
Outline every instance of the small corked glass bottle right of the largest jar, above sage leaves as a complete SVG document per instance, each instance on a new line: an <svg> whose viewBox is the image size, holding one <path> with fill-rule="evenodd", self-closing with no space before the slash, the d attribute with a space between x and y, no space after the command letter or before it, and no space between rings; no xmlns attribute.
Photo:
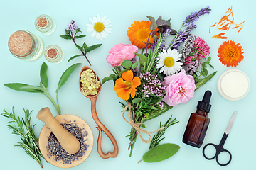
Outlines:
<svg viewBox="0 0 256 170"><path fill-rule="evenodd" d="M44 51L44 55L48 62L60 63L64 59L64 52L57 45L49 45Z"/></svg>

